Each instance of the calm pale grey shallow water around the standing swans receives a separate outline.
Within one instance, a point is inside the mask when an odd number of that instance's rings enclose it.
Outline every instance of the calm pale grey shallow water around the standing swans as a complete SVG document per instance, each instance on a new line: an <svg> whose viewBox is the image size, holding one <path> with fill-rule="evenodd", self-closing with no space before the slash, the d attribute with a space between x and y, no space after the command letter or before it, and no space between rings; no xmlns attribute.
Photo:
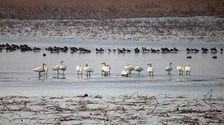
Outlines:
<svg viewBox="0 0 224 125"><path fill-rule="evenodd" d="M0 43L28 44L29 46L41 47L41 52L0 52L0 95L25 95L25 96L62 96L62 95L108 95L133 94L138 92L143 95L187 95L201 97L209 90L213 89L214 95L224 94L224 54L187 54L185 49L201 47L224 48L224 43L214 42L134 42L134 41L75 41L73 39L14 39L2 38ZM75 46L91 49L90 54L74 53L53 53L47 52L44 48L49 46ZM177 47L178 53L139 53L135 54L135 47L160 49L161 47ZM106 52L96 53L95 48L104 48ZM107 48L129 48L131 53L118 54L108 53ZM42 54L47 56L43 57ZM186 57L191 55L192 59ZM212 59L216 55L217 59ZM53 66L64 60L67 65L66 74L63 77L51 69ZM106 62L111 66L110 77L101 76L101 63ZM173 63L173 71L168 75L164 68ZM47 78L38 77L32 69L46 63L50 69ZM90 78L85 75L78 77L75 66L88 63L94 72ZM147 64L152 63L155 72L154 76L148 76L146 72ZM179 76L176 65L186 65L192 67L190 76ZM120 72L127 64L141 66L144 70L140 76L136 72L131 77L121 77Z"/></svg>

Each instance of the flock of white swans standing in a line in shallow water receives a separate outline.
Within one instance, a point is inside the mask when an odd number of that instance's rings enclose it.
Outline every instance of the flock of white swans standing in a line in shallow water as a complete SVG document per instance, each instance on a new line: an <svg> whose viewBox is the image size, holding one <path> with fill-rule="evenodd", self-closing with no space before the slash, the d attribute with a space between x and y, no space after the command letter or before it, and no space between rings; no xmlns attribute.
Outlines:
<svg viewBox="0 0 224 125"><path fill-rule="evenodd" d="M111 70L110 65L106 64L105 62L101 63L101 65L102 65L101 74L104 76L110 75L110 70ZM147 66L148 67L146 71L149 73L149 76L153 76L154 68L152 64L149 63L147 64ZM57 74L59 74L59 71L62 71L63 75L66 69L67 69L67 66L64 64L64 61L61 61L60 64L52 68L52 70L56 71ZM191 72L191 66L189 64L187 64L186 66L177 65L176 69L179 71L179 75L183 75L184 71L186 72L186 75L190 75L190 72ZM169 75L171 74L172 70L173 70L172 63L170 63L167 67L165 67L165 71L168 72ZM43 73L43 75L47 75L48 68L46 64L43 63L42 66L34 68L33 71L38 72L39 76L41 76L41 73ZM140 72L143 71L143 68L140 66L134 67L131 64L128 64L124 66L124 70L121 71L121 76L128 77L129 75L131 75L132 71L136 71L138 72L138 75L140 75ZM86 64L85 66L82 66L82 65L76 66L76 72L77 72L77 75L82 75L83 72L86 72L86 75L90 77L90 74L94 72L94 70L88 64Z"/></svg>

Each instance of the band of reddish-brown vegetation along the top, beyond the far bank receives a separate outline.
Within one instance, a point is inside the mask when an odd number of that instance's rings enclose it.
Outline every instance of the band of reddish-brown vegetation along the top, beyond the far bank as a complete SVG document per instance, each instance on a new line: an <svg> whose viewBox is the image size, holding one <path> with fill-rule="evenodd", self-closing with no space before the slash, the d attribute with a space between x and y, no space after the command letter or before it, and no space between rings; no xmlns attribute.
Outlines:
<svg viewBox="0 0 224 125"><path fill-rule="evenodd" d="M1 0L0 18L107 19L223 16L223 0Z"/></svg>

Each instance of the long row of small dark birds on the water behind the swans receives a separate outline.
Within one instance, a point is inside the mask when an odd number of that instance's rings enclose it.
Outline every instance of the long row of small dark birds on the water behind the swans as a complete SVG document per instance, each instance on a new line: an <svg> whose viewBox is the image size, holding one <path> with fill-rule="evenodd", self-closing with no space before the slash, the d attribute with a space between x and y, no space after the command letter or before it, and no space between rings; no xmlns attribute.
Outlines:
<svg viewBox="0 0 224 125"><path fill-rule="evenodd" d="M0 44L0 52L2 52L3 50L6 50L6 52L12 52L12 51L16 51L16 50L20 50L21 52L26 52L26 51L33 51L33 52L39 52L41 51L40 47L30 47L26 44L23 45L16 45L16 44ZM90 49L86 49L83 47L47 47L45 48L46 51L49 51L50 53L60 53L60 52L64 52L67 53L70 51L70 53L80 53L80 54L84 54L84 53L91 53L92 50ZM96 48L95 49L96 53L104 53L105 51L107 51L108 53L110 52L117 52L118 54L120 53L131 53L132 51L134 51L134 53L177 53L179 50L176 47L173 48L167 48L167 47L162 47L160 49L153 49L153 48L146 48L146 47L141 47L138 48L136 47L134 50L131 49L126 49L126 48L117 48L117 49L103 49L103 48ZM213 53L216 54L218 52L218 49L213 47L213 48L204 48L202 47L200 50L197 48L186 48L187 53L198 53L198 52L202 52L202 53ZM220 48L220 52L223 53L223 48ZM46 53L43 53L43 56L46 56ZM187 56L187 59L191 59L191 56ZM217 56L212 56L213 59L216 59Z"/></svg>

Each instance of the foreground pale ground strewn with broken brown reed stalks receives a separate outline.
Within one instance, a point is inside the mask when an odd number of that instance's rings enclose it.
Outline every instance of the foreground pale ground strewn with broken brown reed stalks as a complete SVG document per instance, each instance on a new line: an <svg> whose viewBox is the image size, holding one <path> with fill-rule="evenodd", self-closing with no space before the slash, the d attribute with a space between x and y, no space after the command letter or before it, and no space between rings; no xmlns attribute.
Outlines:
<svg viewBox="0 0 224 125"><path fill-rule="evenodd" d="M5 124L224 124L222 97L101 95L0 97Z"/></svg>

